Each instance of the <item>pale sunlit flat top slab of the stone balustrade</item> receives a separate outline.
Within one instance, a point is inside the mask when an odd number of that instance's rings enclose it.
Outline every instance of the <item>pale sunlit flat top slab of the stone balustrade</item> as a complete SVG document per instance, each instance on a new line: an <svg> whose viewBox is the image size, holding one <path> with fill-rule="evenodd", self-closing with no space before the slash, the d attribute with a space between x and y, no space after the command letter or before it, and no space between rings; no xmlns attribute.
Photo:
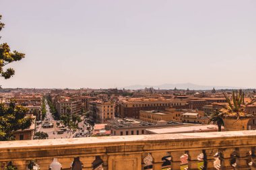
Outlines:
<svg viewBox="0 0 256 170"><path fill-rule="evenodd" d="M181 134L149 134L133 136L103 136L90 138L61 138L46 140L16 140L0 142L0 151L11 148L43 148L46 146L77 146L86 144L86 146L95 144L102 145L124 145L134 142L174 142L174 141L197 141L203 139L228 140L228 138L256 138L256 130L232 131L232 132L199 132L199 133L181 133Z"/></svg>

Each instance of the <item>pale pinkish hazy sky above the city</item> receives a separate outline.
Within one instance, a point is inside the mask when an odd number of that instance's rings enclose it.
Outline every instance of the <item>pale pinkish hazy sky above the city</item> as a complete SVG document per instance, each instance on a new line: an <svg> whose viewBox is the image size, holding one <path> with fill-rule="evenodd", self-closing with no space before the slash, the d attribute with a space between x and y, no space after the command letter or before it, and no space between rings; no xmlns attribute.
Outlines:
<svg viewBox="0 0 256 170"><path fill-rule="evenodd" d="M256 87L255 0L0 0L3 87Z"/></svg>

